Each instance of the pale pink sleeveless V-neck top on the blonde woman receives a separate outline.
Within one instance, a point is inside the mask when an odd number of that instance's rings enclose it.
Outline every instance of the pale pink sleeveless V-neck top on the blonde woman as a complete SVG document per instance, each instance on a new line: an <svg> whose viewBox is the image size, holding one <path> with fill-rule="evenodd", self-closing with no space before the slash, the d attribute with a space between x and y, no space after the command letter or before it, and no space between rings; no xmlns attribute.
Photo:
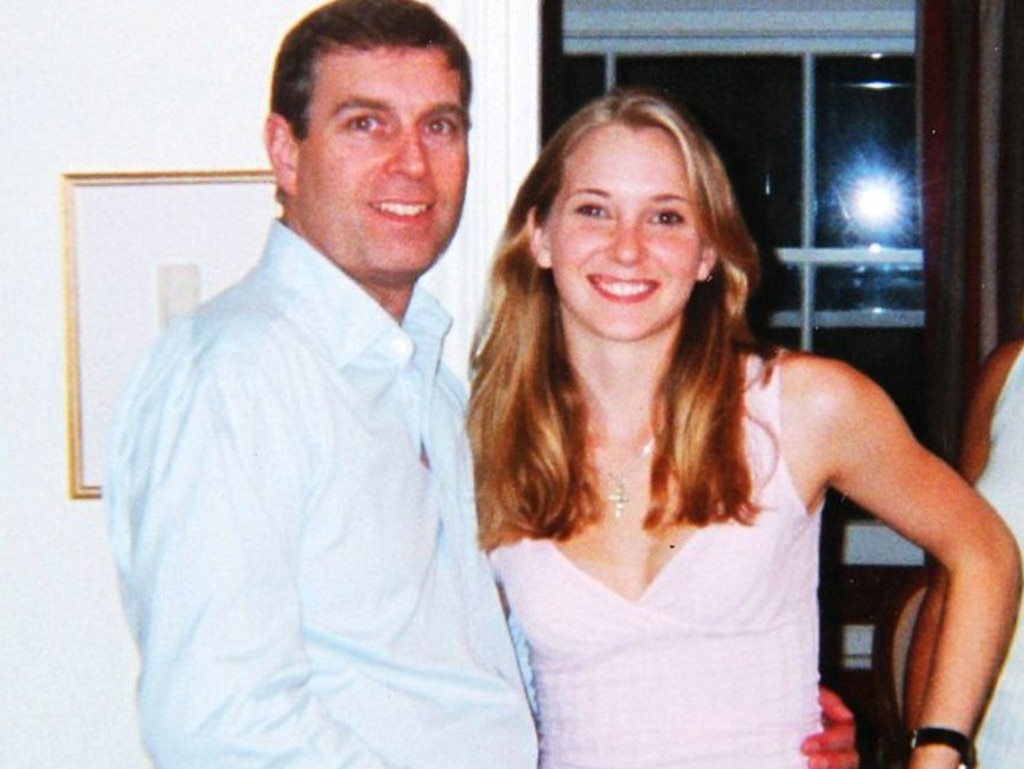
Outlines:
<svg viewBox="0 0 1024 769"><path fill-rule="evenodd" d="M779 375L749 367L762 511L699 529L637 601L550 541L492 554L530 680L543 769L803 769L820 729L818 536L778 455Z"/></svg>

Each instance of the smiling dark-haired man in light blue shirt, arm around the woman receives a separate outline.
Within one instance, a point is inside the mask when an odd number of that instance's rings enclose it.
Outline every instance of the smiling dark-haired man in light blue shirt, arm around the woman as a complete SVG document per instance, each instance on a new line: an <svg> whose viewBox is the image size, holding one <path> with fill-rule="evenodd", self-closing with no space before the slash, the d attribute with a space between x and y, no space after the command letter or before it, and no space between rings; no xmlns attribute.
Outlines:
<svg viewBox="0 0 1024 769"><path fill-rule="evenodd" d="M111 439L158 766L536 766L450 322L417 286L461 213L470 90L462 42L415 0L337 0L282 44L282 219L158 341Z"/></svg>

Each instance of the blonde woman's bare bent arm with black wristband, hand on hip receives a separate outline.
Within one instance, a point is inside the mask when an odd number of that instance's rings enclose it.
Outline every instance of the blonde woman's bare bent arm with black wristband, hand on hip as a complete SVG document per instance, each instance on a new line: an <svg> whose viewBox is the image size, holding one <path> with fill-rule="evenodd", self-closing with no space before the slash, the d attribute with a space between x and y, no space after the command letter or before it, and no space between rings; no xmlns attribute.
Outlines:
<svg viewBox="0 0 1024 769"><path fill-rule="evenodd" d="M1020 586L1017 546L991 507L926 451L880 387L811 356L783 364L783 452L805 499L834 487L932 553L949 573L922 719L972 733L1006 652ZM953 766L944 746L912 767ZM929 764L929 761L934 763Z"/></svg>

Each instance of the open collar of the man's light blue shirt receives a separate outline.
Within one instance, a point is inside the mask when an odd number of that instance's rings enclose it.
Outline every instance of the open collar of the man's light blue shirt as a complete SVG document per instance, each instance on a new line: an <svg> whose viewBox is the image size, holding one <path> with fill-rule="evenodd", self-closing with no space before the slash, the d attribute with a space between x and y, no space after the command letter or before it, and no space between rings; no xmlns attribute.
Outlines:
<svg viewBox="0 0 1024 769"><path fill-rule="evenodd" d="M435 369L452 316L417 285L401 326L355 281L281 221L270 227L261 268L292 294L291 311L339 368L376 360Z"/></svg>

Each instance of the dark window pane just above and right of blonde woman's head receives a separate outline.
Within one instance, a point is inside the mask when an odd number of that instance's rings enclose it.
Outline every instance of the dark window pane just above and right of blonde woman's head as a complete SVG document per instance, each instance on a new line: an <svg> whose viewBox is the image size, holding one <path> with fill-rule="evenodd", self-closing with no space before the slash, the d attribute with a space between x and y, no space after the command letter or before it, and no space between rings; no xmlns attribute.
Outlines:
<svg viewBox="0 0 1024 769"><path fill-rule="evenodd" d="M621 56L616 82L679 98L721 153L758 242L801 245L799 57Z"/></svg>

